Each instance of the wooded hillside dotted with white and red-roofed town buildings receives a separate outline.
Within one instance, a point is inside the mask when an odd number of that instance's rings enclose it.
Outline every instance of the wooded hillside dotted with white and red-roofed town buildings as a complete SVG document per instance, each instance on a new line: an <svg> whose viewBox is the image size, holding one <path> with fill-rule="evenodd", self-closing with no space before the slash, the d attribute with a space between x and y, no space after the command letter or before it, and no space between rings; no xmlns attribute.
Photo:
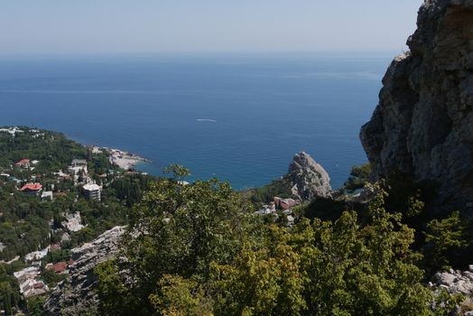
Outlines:
<svg viewBox="0 0 473 316"><path fill-rule="evenodd" d="M129 206L153 178L126 172L113 159L107 149L86 147L60 133L0 128L5 311L24 309L67 277L71 248L127 222Z"/></svg>

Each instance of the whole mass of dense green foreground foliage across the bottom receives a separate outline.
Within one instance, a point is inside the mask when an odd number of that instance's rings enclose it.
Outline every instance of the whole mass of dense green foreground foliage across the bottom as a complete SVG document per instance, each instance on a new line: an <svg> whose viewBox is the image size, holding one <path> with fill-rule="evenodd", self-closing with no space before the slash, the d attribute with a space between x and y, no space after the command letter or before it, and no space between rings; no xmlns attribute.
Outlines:
<svg viewBox="0 0 473 316"><path fill-rule="evenodd" d="M227 183L181 175L153 183L122 259L97 266L103 314L431 314L413 229L383 191L366 223L344 211L285 228L251 215Z"/></svg>

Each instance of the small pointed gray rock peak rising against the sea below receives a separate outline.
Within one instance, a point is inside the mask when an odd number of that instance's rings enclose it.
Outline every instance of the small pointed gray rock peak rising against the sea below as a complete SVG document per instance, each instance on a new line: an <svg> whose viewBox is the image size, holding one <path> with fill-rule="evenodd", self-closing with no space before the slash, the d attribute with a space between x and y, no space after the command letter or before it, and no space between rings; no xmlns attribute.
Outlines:
<svg viewBox="0 0 473 316"><path fill-rule="evenodd" d="M309 201L331 195L329 173L308 153L294 155L287 177L292 183L292 194L299 196L301 200Z"/></svg>

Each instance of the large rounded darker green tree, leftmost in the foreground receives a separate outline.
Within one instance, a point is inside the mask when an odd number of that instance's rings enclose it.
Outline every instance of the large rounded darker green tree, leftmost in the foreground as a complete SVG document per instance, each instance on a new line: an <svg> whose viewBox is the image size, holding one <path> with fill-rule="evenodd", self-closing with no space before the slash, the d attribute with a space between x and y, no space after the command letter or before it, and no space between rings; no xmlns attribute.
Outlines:
<svg viewBox="0 0 473 316"><path fill-rule="evenodd" d="M107 299L115 300L113 293L123 290L120 295L133 299L110 313L153 314L156 306L162 306L157 302L162 302L165 275L204 282L213 262L229 264L241 247L249 213L239 194L217 180L186 185L181 180L188 172L178 166L172 167L172 173L172 179L152 183L134 206L124 238L125 263L107 266L109 272L125 268L136 282L98 271L105 313L113 310Z"/></svg>

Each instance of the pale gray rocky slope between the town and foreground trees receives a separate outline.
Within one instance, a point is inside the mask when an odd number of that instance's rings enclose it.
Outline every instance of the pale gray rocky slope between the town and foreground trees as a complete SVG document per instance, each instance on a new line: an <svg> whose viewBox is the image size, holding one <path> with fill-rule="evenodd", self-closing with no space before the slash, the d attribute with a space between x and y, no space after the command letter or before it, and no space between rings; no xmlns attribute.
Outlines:
<svg viewBox="0 0 473 316"><path fill-rule="evenodd" d="M97 277L94 268L116 255L124 227L107 230L91 243L72 250L75 263L70 268L70 278L51 292L44 304L47 315L98 314L98 299L94 288Z"/></svg>

